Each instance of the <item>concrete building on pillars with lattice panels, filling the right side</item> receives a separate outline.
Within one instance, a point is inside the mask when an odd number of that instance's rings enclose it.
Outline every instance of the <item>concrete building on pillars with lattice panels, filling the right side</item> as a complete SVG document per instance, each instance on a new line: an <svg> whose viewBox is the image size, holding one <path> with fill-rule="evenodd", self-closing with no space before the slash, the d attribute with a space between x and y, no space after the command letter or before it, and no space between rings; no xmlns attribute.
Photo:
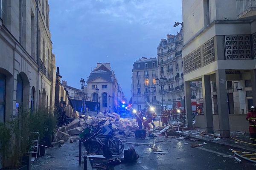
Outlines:
<svg viewBox="0 0 256 170"><path fill-rule="evenodd" d="M256 1L182 0L183 65L187 122L192 127L190 82L201 81L208 133L248 132L245 120L256 105Z"/></svg>

